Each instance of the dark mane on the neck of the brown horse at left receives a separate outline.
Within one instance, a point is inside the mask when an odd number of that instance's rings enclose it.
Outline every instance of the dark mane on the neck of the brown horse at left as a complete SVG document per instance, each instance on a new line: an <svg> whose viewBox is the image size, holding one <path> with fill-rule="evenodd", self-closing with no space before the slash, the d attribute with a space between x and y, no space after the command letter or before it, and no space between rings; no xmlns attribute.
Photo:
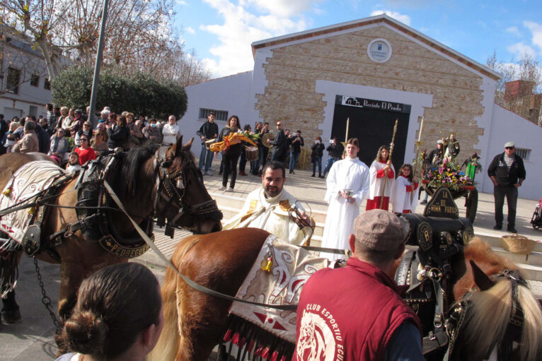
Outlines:
<svg viewBox="0 0 542 361"><path fill-rule="evenodd" d="M160 148L159 144L145 143L143 146L134 147L124 154L119 173L113 181L113 187L119 196L122 198L138 196L141 187L137 187L137 174L158 148Z"/></svg>

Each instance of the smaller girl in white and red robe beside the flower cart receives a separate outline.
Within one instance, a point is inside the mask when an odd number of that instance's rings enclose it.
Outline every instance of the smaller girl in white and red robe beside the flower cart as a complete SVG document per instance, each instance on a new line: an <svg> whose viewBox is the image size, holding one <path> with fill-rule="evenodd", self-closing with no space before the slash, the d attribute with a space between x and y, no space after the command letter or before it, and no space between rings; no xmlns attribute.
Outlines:
<svg viewBox="0 0 542 361"><path fill-rule="evenodd" d="M417 194L420 191L417 186L412 165L401 165L395 187L391 190L390 199L393 212L413 213L416 210Z"/></svg>

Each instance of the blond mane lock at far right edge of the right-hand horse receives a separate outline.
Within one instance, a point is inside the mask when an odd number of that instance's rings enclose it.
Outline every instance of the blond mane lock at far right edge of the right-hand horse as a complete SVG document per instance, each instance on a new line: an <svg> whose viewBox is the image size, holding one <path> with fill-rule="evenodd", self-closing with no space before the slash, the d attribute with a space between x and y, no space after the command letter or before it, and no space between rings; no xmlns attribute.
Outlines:
<svg viewBox="0 0 542 361"><path fill-rule="evenodd" d="M529 288L518 287L517 299L524 314L521 360L542 359L542 309Z"/></svg>

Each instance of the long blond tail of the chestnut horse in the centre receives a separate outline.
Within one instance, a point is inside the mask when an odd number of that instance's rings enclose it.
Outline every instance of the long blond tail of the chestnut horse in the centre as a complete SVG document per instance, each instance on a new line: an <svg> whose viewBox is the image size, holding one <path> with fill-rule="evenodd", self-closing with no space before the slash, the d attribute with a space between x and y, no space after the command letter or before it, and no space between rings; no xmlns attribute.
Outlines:
<svg viewBox="0 0 542 361"><path fill-rule="evenodd" d="M179 242L171 263L179 269L185 254L197 243L199 238L188 237ZM148 361L175 360L180 345L181 319L178 307L183 307L180 297L180 277L171 267L166 270L162 285L163 329L154 349L147 356Z"/></svg>

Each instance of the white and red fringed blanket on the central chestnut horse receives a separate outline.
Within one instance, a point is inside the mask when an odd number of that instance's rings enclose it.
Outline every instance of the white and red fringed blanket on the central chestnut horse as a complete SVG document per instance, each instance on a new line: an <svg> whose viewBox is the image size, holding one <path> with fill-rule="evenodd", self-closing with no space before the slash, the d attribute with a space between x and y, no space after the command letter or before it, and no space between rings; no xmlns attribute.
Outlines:
<svg viewBox="0 0 542 361"><path fill-rule="evenodd" d="M266 304L297 304L306 280L329 264L328 259L313 256L305 249L270 235L236 297ZM230 315L233 316L224 341L236 343L240 348L246 344L249 353L270 358L275 353L277 358L278 354L289 353L293 345L288 343L296 341L295 311L233 302Z"/></svg>

